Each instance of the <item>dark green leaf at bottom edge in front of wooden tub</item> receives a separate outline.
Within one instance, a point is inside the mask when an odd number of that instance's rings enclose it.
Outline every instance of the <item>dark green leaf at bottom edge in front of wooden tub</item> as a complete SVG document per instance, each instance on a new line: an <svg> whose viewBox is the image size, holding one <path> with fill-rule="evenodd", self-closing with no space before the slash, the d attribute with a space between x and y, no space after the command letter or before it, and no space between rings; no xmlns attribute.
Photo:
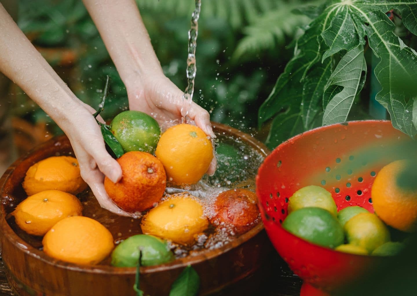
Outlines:
<svg viewBox="0 0 417 296"><path fill-rule="evenodd" d="M188 265L174 281L169 296L196 296L200 289L200 277Z"/></svg>

